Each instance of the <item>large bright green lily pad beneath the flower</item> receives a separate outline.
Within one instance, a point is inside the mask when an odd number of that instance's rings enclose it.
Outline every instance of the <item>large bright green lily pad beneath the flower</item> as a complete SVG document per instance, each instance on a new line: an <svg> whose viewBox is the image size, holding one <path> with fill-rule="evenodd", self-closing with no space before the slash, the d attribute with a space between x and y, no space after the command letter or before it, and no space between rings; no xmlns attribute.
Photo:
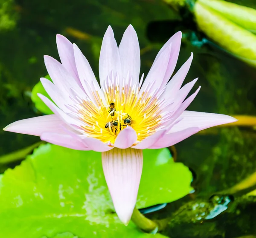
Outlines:
<svg viewBox="0 0 256 238"><path fill-rule="evenodd" d="M174 163L167 149L144 150L143 155L138 208L171 202L192 190L191 172ZM8 238L52 238L63 232L79 238L153 238L132 222L128 227L120 223L101 153L52 144L39 146L0 177L0 221L0 237Z"/></svg>

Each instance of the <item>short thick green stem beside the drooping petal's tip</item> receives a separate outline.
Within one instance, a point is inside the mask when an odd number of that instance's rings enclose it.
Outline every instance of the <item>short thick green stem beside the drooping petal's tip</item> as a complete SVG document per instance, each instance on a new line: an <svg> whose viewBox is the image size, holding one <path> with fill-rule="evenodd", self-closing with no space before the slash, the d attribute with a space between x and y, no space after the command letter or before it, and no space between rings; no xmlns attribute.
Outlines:
<svg viewBox="0 0 256 238"><path fill-rule="evenodd" d="M140 211L135 207L131 216L131 221L137 225L140 229L145 232L155 234L158 231L163 230L168 224L167 219L152 221L146 218Z"/></svg>

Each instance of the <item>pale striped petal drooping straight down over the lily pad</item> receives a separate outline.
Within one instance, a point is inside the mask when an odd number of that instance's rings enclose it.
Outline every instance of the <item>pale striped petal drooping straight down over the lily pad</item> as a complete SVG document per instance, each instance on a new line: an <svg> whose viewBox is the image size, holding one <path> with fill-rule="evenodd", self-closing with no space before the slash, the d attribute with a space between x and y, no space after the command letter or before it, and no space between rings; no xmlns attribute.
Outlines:
<svg viewBox="0 0 256 238"><path fill-rule="evenodd" d="M102 166L116 213L127 225L137 200L143 166L142 150L114 148L103 152Z"/></svg>

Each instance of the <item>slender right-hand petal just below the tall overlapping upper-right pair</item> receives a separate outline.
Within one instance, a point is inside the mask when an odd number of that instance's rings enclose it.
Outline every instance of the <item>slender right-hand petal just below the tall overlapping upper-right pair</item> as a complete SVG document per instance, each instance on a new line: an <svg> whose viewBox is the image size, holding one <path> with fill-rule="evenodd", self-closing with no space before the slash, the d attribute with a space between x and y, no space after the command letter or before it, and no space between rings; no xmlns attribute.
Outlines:
<svg viewBox="0 0 256 238"><path fill-rule="evenodd" d="M189 68L191 66L193 59L193 53L191 53L191 56L189 59L183 64L183 66L180 67L178 72L172 77L172 79L167 83L166 90L163 94L163 98L166 100L172 101L175 99L177 92L180 90L180 87L189 72Z"/></svg>

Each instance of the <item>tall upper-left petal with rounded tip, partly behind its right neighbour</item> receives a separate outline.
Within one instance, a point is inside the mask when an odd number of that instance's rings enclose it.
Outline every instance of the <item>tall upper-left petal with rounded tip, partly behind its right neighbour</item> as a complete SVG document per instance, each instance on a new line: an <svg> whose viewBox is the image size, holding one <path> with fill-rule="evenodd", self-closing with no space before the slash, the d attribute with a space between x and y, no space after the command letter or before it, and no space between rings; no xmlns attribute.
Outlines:
<svg viewBox="0 0 256 238"><path fill-rule="evenodd" d="M61 34L56 35L56 42L62 65L67 69L67 72L70 73L70 75L76 80L76 82L81 85L78 77L78 72L76 70L72 43Z"/></svg>

